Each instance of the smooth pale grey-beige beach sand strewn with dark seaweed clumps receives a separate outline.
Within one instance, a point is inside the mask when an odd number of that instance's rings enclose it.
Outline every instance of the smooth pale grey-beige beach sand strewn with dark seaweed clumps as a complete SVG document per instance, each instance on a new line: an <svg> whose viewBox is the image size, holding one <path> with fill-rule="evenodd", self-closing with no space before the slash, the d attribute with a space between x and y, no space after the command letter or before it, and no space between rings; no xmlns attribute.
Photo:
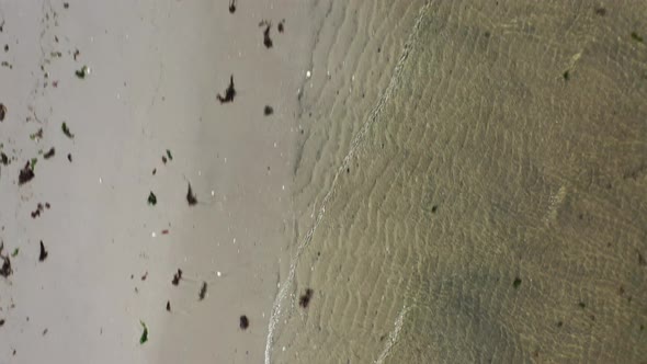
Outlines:
<svg viewBox="0 0 647 364"><path fill-rule="evenodd" d="M19 249L0 278L1 362L263 361L293 240L296 102L311 34L296 1L227 8L0 3L1 57L12 65L0 68L11 159L0 166L0 238L3 254ZM236 95L220 104L231 75ZM35 178L19 186L32 158ZM38 203L50 208L32 218Z"/></svg>

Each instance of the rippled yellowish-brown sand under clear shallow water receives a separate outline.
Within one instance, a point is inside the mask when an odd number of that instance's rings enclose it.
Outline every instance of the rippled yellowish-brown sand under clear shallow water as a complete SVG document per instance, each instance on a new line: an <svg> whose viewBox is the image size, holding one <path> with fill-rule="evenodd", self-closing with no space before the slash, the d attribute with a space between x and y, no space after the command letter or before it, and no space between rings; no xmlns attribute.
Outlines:
<svg viewBox="0 0 647 364"><path fill-rule="evenodd" d="M322 11L272 361L645 360L647 3Z"/></svg>

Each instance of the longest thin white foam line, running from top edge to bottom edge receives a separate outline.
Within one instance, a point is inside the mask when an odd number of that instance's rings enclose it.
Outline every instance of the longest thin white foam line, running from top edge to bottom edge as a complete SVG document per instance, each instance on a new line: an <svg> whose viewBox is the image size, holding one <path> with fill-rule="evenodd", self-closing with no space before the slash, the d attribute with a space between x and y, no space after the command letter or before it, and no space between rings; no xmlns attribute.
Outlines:
<svg viewBox="0 0 647 364"><path fill-rule="evenodd" d="M368 120L364 123L364 125L362 125L362 128L360 129L357 135L355 135L355 137L353 138L353 140L351 143L350 151L343 158L343 161L342 161L341 166L339 167L339 169L337 170L337 173L334 173L334 178L332 179L332 184L330 185L330 190L328 190L328 193L326 193L326 196L324 197L324 201L321 202L321 207L319 208L319 212L317 213L317 218L315 219L315 224L308 230L308 232L306 234L306 237L304 238L304 240L302 240L302 242L297 247L296 254L292 259L292 263L290 265L290 273L287 274L287 277L286 277L284 284L281 285L281 289L279 289L279 294L276 294L276 298L274 299L274 304L272 305L272 314L270 315L268 339L265 341L265 364L270 364L270 362L271 362L270 356L271 356L272 344L274 341L274 330L276 329L276 325L277 325L279 319L281 317L281 312L282 312L282 308L283 308L282 307L283 300L285 299L285 297L287 296L287 293L292 288L292 284L294 282L294 274L296 272L296 266L299 262L299 258L303 253L303 250L313 240L313 236L315 234L315 230L317 230L317 227L319 227L319 224L321 223L321 219L324 218L324 215L326 214L326 206L328 205L328 202L330 201L330 198L332 197L332 195L334 194L334 192L337 190L337 181L339 179L339 175L347 169L347 166L349 164L349 162L351 161L351 159L355 155L355 150L360 147L361 143L364 140L364 136L368 132L368 128L378 120L378 116L382 114L384 105L390 99L390 96L395 92L395 90L397 89L399 77L400 77L400 73L402 72L402 68L405 66L405 61L407 60L407 58L409 57L409 54L411 53L411 49L413 47L413 42L416 41L416 37L418 35L418 31L420 30L420 24L422 23L424 12L427 11L428 8L429 8L429 2L424 3L424 5L422 5L420 8L420 10L418 11L418 18L416 19L416 23L413 24L413 29L409 33L407 42L405 43L402 54L400 55L400 58L398 59L398 62L396 64L396 67L394 68L394 75L391 76L391 78L389 80L388 87L386 88L386 90L384 91L384 93L382 94L379 100L377 101L377 104L373 107L373 111L371 112Z"/></svg>

